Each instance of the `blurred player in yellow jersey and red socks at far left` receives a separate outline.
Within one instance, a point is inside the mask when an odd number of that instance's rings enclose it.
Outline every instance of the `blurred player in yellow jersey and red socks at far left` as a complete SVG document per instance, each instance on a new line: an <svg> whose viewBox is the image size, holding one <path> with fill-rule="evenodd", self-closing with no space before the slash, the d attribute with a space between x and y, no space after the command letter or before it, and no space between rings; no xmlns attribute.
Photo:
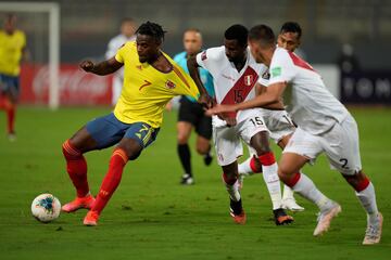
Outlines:
<svg viewBox="0 0 391 260"><path fill-rule="evenodd" d="M8 135L15 140L15 110L20 93L21 60L25 54L26 37L16 29L16 16L9 14L0 30L0 108L7 113Z"/></svg>

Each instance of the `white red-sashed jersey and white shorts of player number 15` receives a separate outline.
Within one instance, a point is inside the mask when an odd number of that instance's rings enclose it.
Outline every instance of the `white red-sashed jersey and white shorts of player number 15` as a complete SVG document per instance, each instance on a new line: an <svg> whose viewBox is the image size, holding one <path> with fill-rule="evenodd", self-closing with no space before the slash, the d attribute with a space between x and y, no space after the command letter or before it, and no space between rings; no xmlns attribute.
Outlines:
<svg viewBox="0 0 391 260"><path fill-rule="evenodd" d="M267 73L267 67L256 63L249 49L245 65L240 72L229 62L225 47L207 49L197 55L197 62L212 74L218 104L236 104L254 99L255 83L260 81L267 84L267 80L262 77ZM250 145L254 134L268 131L262 108L240 110L229 116L237 119L237 125L230 128L226 127L226 121L213 118L214 143L220 166L234 162L243 154L241 140Z"/></svg>

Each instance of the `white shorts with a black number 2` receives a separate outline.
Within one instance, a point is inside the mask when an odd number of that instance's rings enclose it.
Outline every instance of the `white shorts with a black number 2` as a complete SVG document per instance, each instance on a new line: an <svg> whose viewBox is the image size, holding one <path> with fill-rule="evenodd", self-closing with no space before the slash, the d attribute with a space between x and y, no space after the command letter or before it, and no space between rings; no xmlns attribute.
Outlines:
<svg viewBox="0 0 391 260"><path fill-rule="evenodd" d="M354 118L348 116L323 134L311 134L300 127L294 131L283 153L307 157L311 164L325 152L332 169L343 174L355 174L362 169L358 130Z"/></svg>

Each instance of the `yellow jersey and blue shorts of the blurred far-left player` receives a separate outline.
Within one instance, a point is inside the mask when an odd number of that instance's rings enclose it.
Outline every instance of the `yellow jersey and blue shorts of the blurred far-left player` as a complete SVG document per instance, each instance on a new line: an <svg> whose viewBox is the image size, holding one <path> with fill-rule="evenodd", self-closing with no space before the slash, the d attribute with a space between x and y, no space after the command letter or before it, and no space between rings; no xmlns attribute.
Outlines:
<svg viewBox="0 0 391 260"><path fill-rule="evenodd" d="M12 35L0 30L0 82L2 91L18 92L21 60L26 47L26 36L22 30L15 30Z"/></svg>

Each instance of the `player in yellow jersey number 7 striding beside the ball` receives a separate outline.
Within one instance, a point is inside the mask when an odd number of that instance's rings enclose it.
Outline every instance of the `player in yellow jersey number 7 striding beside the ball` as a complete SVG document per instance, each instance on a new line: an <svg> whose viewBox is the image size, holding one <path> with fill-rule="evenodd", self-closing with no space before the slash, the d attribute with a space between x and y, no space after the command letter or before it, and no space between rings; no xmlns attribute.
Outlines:
<svg viewBox="0 0 391 260"><path fill-rule="evenodd" d="M147 22L136 31L136 42L125 43L116 55L93 64L85 61L80 67L97 75L108 75L125 67L124 87L114 113L89 121L63 144L66 170L76 187L75 200L63 206L72 212L90 209L85 225L97 225L98 218L118 186L128 160L136 159L156 138L163 110L175 95L191 95L200 102L212 100L204 89L198 90L190 76L161 51L164 30ZM200 96L201 93L201 96ZM109 171L96 198L87 182L84 153L117 144L110 159Z"/></svg>

